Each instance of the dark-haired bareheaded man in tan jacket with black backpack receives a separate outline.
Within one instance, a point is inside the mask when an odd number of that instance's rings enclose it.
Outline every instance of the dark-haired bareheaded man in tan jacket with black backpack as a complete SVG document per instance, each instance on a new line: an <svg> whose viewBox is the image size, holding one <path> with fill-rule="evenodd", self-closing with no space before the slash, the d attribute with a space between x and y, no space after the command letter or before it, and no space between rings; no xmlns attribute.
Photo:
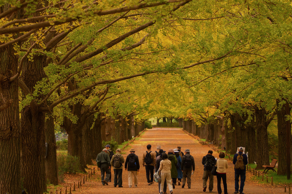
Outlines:
<svg viewBox="0 0 292 194"><path fill-rule="evenodd" d="M148 185L153 184L154 166L156 165L156 154L151 151L151 145L147 145L147 151L143 153L142 165L145 166Z"/></svg>

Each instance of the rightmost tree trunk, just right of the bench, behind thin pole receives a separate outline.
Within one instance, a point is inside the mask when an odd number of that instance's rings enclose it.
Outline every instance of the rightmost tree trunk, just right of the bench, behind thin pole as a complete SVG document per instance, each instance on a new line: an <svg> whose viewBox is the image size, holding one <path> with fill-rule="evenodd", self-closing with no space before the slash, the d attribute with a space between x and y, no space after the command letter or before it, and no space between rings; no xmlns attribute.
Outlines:
<svg viewBox="0 0 292 194"><path fill-rule="evenodd" d="M278 126L278 171L277 175L287 175L287 145L286 145L286 104L280 105L279 101L276 100L277 103L277 126ZM289 113L291 111L291 108L289 107ZM289 115L290 116L290 115ZM291 137L291 122L289 125L290 128L290 140L292 140ZM292 143L290 143L292 145ZM290 149L292 151L292 149ZM290 154L292 156L292 154Z"/></svg>

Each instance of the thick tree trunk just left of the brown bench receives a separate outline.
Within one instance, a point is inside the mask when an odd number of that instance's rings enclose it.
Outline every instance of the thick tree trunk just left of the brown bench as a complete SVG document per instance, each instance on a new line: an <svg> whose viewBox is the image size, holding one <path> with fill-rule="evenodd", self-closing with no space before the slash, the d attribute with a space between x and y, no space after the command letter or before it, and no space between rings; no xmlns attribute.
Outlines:
<svg viewBox="0 0 292 194"><path fill-rule="evenodd" d="M256 169L263 169L262 165L270 165L269 147L268 147L268 131L267 131L267 111L263 107L256 107L256 132L258 144L258 163Z"/></svg>

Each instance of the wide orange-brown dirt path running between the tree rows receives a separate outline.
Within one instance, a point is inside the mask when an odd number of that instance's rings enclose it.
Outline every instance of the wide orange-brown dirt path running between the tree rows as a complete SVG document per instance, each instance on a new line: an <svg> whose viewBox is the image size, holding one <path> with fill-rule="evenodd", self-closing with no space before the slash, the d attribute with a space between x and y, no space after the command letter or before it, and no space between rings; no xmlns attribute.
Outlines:
<svg viewBox="0 0 292 194"><path fill-rule="evenodd" d="M112 182L109 183L107 186L102 186L101 182L91 182L82 191L82 193L105 193L105 194L117 194L117 193L124 193L124 194L132 194L132 193L145 193L145 194L157 194L158 193L158 184L154 182L154 184L148 186L145 168L142 166L142 154L146 150L146 145L152 145L152 151L156 150L157 145L161 145L163 150L168 151L168 149L174 149L177 146L181 146L182 150L190 149L191 155L194 156L196 170L194 175L192 175L192 188L181 188L181 186L176 186L173 190L173 193L184 193L184 194L191 194L191 193L206 193L203 192L202 186L202 175L203 175L203 165L201 164L202 157L205 156L210 149L206 145L201 145L197 140L194 140L191 136L185 134L182 129L166 129L166 128L154 128L148 129L145 134L141 135L138 140L135 140L131 146L128 147L127 150L124 150L126 154L124 158L129 154L129 150L134 148L136 150L135 154L138 155L140 161L140 172L138 175L138 188L128 188L128 172L123 171L123 188L114 188L113 186L113 170L112 170ZM219 157L218 153L213 154L215 157ZM227 169L227 189L228 193L234 192L234 165L231 161L228 161L228 169ZM97 176L99 176L99 172L97 172ZM247 173L247 178L245 181L244 186L244 193L246 194L268 194L268 193L281 193L283 189L275 188L269 186L258 185L255 182L250 180L250 174ZM208 183L207 183L208 185ZM223 188L223 184L221 184ZM207 188L208 191L208 188ZM167 193L169 190L167 188ZM213 193L217 193L217 179L214 177L214 189Z"/></svg>

